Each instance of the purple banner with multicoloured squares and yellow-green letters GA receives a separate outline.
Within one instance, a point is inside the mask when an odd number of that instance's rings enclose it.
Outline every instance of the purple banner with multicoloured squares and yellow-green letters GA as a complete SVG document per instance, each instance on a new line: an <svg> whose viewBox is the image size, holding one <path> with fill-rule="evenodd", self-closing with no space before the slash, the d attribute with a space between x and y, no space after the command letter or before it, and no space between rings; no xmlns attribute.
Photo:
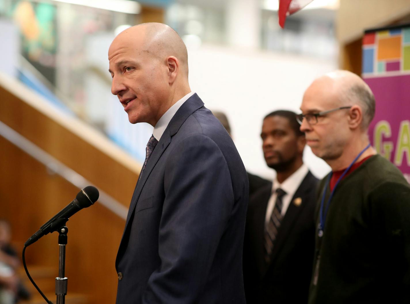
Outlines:
<svg viewBox="0 0 410 304"><path fill-rule="evenodd" d="M366 31L362 78L376 98L369 138L410 183L410 25Z"/></svg>

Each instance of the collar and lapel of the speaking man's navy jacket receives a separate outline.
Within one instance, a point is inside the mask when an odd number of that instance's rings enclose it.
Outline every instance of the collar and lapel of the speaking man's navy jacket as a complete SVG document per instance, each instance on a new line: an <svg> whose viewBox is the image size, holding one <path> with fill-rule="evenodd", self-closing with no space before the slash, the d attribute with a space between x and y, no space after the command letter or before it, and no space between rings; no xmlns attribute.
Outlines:
<svg viewBox="0 0 410 304"><path fill-rule="evenodd" d="M142 173L142 176L137 181L137 185L135 186L134 194L132 195L130 209L128 209L127 220L125 222L125 230L127 229L128 223L130 222L130 218L132 213L134 212L135 206L137 205L139 196L141 195L141 191L144 188L144 185L150 176L151 171L157 164L159 158L162 156L168 145L171 143L171 137L174 136L182 124L187 120L187 118L194 113L199 108L203 107L202 100L198 97L195 93L192 95L182 106L178 109L175 113L171 121L169 122L168 126L166 127L164 134L162 134L161 139L157 143L151 157L147 163L147 166ZM123 234L124 236L124 234Z"/></svg>

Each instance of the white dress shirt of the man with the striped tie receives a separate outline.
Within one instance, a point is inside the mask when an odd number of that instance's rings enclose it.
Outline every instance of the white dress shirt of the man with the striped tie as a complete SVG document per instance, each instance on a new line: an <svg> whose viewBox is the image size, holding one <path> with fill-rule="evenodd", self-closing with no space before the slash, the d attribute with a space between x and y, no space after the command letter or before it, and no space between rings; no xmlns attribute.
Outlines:
<svg viewBox="0 0 410 304"><path fill-rule="evenodd" d="M295 195L296 190L298 190L299 186L301 185L303 179L305 178L308 172L307 166L302 164L302 166L296 170L291 176L289 176L282 184L279 184L278 179L273 181L272 185L272 195L269 198L268 207L266 208L266 216L265 216L265 225L269 223L271 218L273 207L275 206L276 202L276 189L281 188L283 191L286 192L285 195L282 197L282 211L280 214L285 216L287 211L287 207L289 207L290 200Z"/></svg>

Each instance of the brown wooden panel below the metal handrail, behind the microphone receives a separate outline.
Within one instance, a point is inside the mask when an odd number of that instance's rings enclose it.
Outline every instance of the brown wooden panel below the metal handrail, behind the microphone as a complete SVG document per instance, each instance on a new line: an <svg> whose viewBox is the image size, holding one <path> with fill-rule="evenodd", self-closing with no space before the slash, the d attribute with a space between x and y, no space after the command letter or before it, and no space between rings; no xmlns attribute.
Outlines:
<svg viewBox="0 0 410 304"><path fill-rule="evenodd" d="M14 243L23 243L47 220L75 198L79 189L0 137L1 217L11 222ZM68 293L87 294L91 304L115 301L115 257L125 221L98 201L68 222L66 276ZM43 236L27 247L31 265L54 266L58 275L58 234ZM55 277L50 277L54 281ZM40 286L41 288L41 286ZM55 299L51 299L54 301Z"/></svg>

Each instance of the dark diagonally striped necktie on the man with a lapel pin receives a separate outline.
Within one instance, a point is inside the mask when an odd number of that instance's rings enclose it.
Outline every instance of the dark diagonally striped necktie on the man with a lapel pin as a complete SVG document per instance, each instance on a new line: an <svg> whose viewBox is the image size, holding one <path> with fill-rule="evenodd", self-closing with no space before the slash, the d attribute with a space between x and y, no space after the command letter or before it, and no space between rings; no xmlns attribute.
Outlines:
<svg viewBox="0 0 410 304"><path fill-rule="evenodd" d="M282 215L280 214L280 212L282 211L283 204L282 197L285 194L286 192L282 189L276 189L275 206L273 207L271 218L269 219L269 223L266 225L265 229L265 261L268 264L271 262L273 244L275 243L275 240L278 236L280 221L282 220Z"/></svg>

